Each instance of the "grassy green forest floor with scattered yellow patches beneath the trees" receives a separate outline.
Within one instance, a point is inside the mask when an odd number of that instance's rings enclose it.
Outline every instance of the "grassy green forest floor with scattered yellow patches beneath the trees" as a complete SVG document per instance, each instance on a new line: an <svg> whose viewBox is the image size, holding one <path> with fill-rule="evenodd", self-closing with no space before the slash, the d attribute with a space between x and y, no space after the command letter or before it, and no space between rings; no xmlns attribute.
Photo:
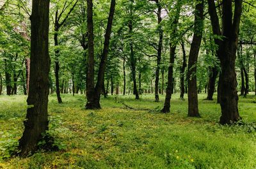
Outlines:
<svg viewBox="0 0 256 169"><path fill-rule="evenodd" d="M170 114L152 111L164 98L156 103L150 94L102 98L101 110L84 110L84 95L62 98L49 97L49 133L61 150L9 158L22 135L26 96L0 96L0 168L256 168L254 96L239 98L241 126L220 126L220 105L205 94L202 118L187 117L188 100L178 94Z"/></svg>

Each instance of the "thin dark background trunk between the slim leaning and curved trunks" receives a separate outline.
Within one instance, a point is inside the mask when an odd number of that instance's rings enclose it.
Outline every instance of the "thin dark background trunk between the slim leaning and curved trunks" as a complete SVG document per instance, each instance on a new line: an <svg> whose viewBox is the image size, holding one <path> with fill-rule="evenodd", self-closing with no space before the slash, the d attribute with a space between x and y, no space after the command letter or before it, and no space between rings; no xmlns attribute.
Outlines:
<svg viewBox="0 0 256 169"><path fill-rule="evenodd" d="M180 99L184 99L184 92L185 92L184 73L185 73L187 63L186 63L186 50L185 50L185 45L183 40L181 41L180 45L183 53L182 66L180 68Z"/></svg>

